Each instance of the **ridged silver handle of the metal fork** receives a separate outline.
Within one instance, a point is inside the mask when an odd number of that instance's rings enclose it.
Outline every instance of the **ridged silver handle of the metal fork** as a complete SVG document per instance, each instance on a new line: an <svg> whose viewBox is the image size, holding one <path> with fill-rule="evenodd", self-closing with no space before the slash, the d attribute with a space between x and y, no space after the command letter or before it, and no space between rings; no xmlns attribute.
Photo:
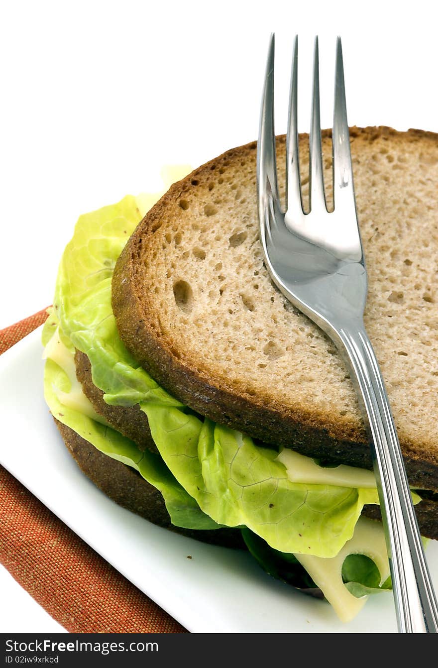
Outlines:
<svg viewBox="0 0 438 668"><path fill-rule="evenodd" d="M437 601L379 364L363 323L338 334L369 426L399 632L438 633Z"/></svg>

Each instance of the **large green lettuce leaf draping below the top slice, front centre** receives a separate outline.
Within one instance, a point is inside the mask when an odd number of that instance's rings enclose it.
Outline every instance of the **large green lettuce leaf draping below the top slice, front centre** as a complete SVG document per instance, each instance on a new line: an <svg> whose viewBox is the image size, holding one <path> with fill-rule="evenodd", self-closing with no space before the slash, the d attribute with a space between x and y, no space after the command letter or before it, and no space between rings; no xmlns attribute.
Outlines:
<svg viewBox="0 0 438 668"><path fill-rule="evenodd" d="M290 482L276 452L177 407L141 402L177 480L218 524L244 525L280 552L335 556L377 490Z"/></svg>

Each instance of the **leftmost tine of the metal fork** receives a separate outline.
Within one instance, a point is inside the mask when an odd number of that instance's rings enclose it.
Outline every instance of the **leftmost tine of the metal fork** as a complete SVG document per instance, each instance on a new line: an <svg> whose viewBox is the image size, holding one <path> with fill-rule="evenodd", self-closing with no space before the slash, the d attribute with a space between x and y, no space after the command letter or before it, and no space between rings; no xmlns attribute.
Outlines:
<svg viewBox="0 0 438 668"><path fill-rule="evenodd" d="M268 207L270 197L278 201L274 133L274 33L270 36L266 74L260 112L257 144L257 186L260 215ZM260 224L262 224L260 218Z"/></svg>

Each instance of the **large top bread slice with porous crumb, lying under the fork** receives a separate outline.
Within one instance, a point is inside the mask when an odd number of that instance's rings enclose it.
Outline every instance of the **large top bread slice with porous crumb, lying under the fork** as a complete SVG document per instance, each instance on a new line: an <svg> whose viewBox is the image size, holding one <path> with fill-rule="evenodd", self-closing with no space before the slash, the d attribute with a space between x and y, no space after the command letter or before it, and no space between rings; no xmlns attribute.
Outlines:
<svg viewBox="0 0 438 668"><path fill-rule="evenodd" d="M330 205L330 132L322 144ZM351 152L369 274L365 323L409 480L438 490L438 136L352 128ZM284 153L280 137L282 196ZM339 353L264 267L255 143L170 188L128 241L112 295L125 345L178 399L264 442L371 468Z"/></svg>

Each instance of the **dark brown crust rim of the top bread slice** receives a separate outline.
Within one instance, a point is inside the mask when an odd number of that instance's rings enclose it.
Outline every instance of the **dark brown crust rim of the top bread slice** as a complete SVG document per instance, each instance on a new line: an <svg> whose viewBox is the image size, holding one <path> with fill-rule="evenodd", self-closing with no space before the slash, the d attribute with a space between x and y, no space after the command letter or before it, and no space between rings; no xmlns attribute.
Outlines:
<svg viewBox="0 0 438 668"><path fill-rule="evenodd" d="M324 132L325 137L330 132ZM355 142L369 144L381 136L395 137L401 142L431 140L438 136L421 130L397 133L391 128L352 128ZM284 138L278 138L284 144ZM170 393L202 415L242 430L268 444L282 445L308 456L326 458L335 463L371 468L371 456L365 428L357 418L350 423L321 415L318 407L307 405L285 409L280 402L266 402L260 393L236 390L232 383L199 368L166 340L160 327L160 314L154 313L144 290L146 248L163 221L176 217L182 194L196 188L221 166L252 160L255 171L256 143L232 149L208 162L184 180L174 184L168 193L148 212L132 234L120 256L112 283L112 305L120 336L144 368ZM196 177L196 178L195 178ZM181 206L181 204L179 204ZM428 452L429 446L400 437L407 474L417 488L438 490L438 460ZM430 448L429 448L430 450Z"/></svg>

